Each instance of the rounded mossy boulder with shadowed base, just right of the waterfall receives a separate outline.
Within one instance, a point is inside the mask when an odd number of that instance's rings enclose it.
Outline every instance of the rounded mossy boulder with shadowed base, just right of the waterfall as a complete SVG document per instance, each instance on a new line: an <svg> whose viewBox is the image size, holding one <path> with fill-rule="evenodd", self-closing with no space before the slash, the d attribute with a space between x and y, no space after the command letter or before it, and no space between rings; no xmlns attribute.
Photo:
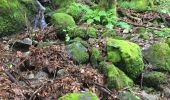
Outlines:
<svg viewBox="0 0 170 100"><path fill-rule="evenodd" d="M66 13L54 13L51 23L54 25L57 31L56 33L61 39L65 39L68 28L76 27L73 17Z"/></svg>

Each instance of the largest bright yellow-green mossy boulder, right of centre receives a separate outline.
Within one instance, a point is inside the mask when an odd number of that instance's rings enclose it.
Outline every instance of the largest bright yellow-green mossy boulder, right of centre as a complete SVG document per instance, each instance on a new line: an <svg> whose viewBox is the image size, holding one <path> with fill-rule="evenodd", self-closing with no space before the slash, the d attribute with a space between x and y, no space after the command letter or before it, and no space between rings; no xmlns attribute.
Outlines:
<svg viewBox="0 0 170 100"><path fill-rule="evenodd" d="M108 60L118 65L130 78L136 79L143 72L142 53L137 44L109 38L107 39L107 54Z"/></svg>

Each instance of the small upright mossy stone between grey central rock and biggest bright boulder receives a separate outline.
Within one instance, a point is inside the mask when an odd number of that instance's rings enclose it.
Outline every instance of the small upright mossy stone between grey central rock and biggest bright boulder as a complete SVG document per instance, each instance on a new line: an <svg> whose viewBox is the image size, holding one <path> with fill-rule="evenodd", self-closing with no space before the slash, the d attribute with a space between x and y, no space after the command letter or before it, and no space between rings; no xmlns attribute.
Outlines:
<svg viewBox="0 0 170 100"><path fill-rule="evenodd" d="M91 50L90 62L93 66L97 67L100 61L102 61L101 52L98 48L93 47Z"/></svg>

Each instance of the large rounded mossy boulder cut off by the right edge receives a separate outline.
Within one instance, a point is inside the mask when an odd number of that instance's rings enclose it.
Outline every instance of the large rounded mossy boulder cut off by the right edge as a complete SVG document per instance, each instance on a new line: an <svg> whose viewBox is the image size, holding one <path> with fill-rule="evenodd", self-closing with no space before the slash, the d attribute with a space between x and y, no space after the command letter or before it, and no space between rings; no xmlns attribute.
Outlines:
<svg viewBox="0 0 170 100"><path fill-rule="evenodd" d="M155 69L170 72L170 47L167 43L153 44L144 52L144 55Z"/></svg>

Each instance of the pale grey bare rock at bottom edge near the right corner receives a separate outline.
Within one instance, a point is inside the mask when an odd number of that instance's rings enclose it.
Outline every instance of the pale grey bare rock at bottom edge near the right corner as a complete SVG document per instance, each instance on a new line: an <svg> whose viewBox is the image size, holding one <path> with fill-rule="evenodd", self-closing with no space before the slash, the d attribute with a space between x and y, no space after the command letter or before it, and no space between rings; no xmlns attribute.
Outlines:
<svg viewBox="0 0 170 100"><path fill-rule="evenodd" d="M159 97L154 94L148 94L145 91L142 91L141 93L143 100L159 100Z"/></svg>

